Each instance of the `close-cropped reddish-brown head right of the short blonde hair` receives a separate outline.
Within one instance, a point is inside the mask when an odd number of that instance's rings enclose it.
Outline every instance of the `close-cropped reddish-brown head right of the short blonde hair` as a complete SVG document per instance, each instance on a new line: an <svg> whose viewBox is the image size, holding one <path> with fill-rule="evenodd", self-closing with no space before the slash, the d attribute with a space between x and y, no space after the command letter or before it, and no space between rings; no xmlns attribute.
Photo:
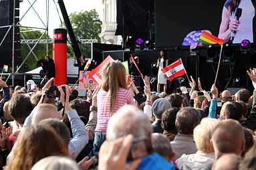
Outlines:
<svg viewBox="0 0 256 170"><path fill-rule="evenodd" d="M245 133L238 121L228 119L221 121L215 128L211 143L218 159L225 153L235 153L241 156L245 150Z"/></svg>

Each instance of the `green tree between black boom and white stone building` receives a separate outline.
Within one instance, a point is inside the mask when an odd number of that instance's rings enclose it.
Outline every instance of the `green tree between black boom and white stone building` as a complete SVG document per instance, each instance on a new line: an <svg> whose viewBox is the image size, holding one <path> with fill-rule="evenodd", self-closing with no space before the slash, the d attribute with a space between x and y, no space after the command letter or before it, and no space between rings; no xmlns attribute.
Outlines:
<svg viewBox="0 0 256 170"><path fill-rule="evenodd" d="M99 33L101 32L102 21L95 9L91 11L80 11L80 13L70 14L70 23L74 30L76 39L98 39L100 43ZM80 44L80 51L82 55L90 57L90 45ZM74 52L71 45L68 45L68 58L73 57Z"/></svg>

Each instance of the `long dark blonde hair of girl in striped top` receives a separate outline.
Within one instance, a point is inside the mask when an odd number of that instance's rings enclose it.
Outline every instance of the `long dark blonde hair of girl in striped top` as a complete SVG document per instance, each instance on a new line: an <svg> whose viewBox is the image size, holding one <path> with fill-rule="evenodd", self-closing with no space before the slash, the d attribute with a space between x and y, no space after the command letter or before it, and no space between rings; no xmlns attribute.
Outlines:
<svg viewBox="0 0 256 170"><path fill-rule="evenodd" d="M126 69L116 60L106 64L102 77L102 89L110 93L110 112L113 112L119 88L127 89Z"/></svg>

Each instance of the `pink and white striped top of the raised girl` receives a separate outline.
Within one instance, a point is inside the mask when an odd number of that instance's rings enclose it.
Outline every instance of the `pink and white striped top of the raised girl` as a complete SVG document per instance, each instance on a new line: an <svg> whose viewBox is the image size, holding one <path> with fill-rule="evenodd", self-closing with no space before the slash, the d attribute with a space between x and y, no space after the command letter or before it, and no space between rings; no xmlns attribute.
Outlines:
<svg viewBox="0 0 256 170"><path fill-rule="evenodd" d="M110 95L106 103L107 94L108 92L100 89L97 95L98 120L95 131L107 131L108 120L110 119ZM104 113L105 103L106 111ZM136 103L134 103L130 91L120 88L118 89L118 97L116 98L116 104L114 106L113 113L116 113L118 109L120 109L122 106L126 104L136 106Z"/></svg>

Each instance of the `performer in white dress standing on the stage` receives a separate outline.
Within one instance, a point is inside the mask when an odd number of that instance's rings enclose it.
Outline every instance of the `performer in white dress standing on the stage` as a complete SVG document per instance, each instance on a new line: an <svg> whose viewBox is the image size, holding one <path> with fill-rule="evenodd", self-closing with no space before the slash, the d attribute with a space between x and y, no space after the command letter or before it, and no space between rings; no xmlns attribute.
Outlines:
<svg viewBox="0 0 256 170"><path fill-rule="evenodd" d="M160 51L160 57L157 60L157 65L156 67L158 68L158 76L157 76L157 93L160 93L160 87L161 84L164 85L164 92L166 92L167 89L167 78L166 75L161 71L164 67L168 66L168 59L164 57L164 51Z"/></svg>

